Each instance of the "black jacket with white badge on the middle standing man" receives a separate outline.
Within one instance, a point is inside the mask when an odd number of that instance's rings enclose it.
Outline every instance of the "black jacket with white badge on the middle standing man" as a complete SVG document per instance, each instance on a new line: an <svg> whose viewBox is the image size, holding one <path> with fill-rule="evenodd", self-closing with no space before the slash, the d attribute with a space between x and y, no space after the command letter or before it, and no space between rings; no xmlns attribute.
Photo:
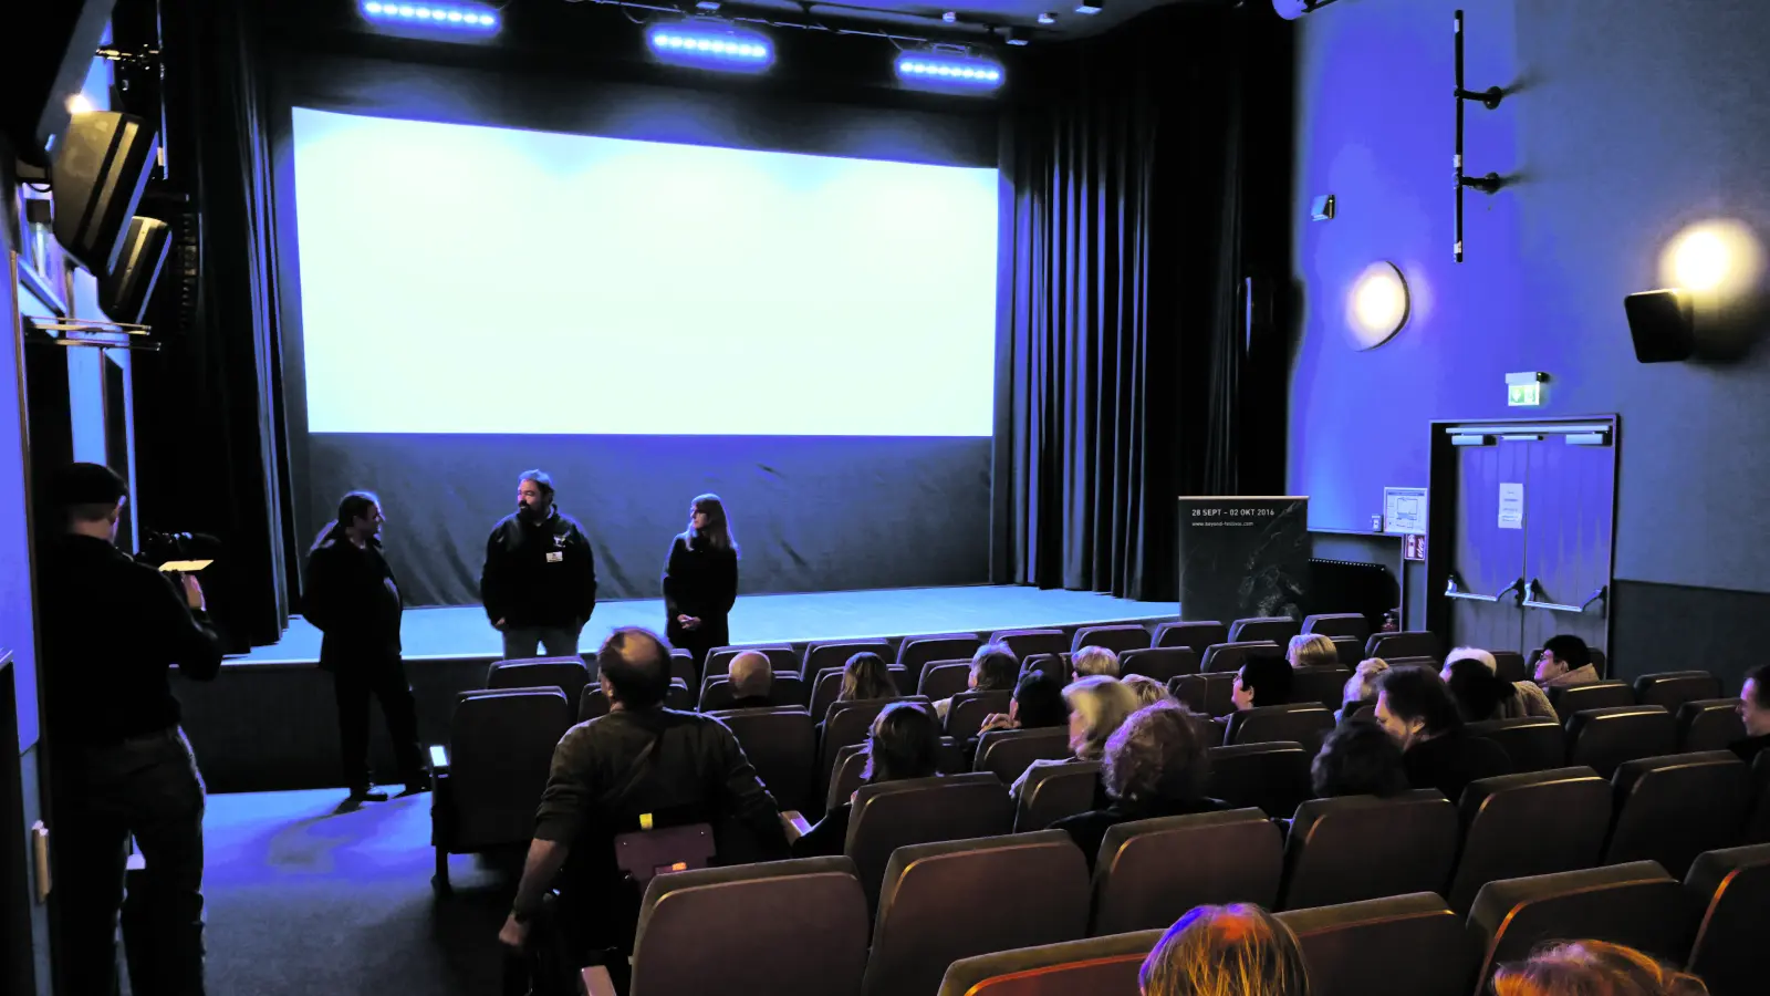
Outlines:
<svg viewBox="0 0 1770 996"><path fill-rule="evenodd" d="M485 617L506 627L575 627L596 610L596 555L577 519L558 507L531 523L510 514L485 541Z"/></svg>

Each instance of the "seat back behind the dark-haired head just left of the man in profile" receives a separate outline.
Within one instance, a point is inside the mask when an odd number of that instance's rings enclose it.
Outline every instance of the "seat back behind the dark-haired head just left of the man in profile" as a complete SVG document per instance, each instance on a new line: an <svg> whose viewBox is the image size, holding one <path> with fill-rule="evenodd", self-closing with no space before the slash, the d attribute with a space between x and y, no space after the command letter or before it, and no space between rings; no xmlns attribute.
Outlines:
<svg viewBox="0 0 1770 996"><path fill-rule="evenodd" d="M1457 838L1457 806L1435 789L1310 799L1285 840L1283 907L1437 891L1450 881Z"/></svg>

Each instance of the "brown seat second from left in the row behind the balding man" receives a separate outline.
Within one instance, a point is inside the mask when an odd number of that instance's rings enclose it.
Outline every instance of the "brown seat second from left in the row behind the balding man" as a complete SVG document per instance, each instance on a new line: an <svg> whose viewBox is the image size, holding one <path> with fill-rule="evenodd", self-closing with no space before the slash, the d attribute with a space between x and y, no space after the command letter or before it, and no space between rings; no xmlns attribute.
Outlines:
<svg viewBox="0 0 1770 996"><path fill-rule="evenodd" d="M903 847L885 868L864 996L935 996L947 968L1087 932L1089 870L1060 829Z"/></svg>

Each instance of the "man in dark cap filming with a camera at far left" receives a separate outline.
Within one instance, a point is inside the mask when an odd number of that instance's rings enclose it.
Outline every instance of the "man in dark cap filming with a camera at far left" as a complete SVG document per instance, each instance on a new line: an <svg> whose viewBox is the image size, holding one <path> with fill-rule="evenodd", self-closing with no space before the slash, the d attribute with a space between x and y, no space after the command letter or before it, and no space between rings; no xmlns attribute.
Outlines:
<svg viewBox="0 0 1770 996"><path fill-rule="evenodd" d="M221 638L195 574L117 549L127 486L76 463L53 484L60 535L37 606L55 916L67 992L117 991L122 911L135 992L204 992L204 782L166 672L212 681ZM124 897L126 847L145 863Z"/></svg>

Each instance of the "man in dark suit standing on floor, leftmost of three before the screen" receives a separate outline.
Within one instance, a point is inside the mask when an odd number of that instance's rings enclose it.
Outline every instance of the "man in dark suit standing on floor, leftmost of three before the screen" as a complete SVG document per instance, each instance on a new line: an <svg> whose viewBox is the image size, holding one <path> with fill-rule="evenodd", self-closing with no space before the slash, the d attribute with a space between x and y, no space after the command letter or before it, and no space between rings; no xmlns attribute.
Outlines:
<svg viewBox="0 0 1770 996"><path fill-rule="evenodd" d="M326 638L320 670L333 675L338 700L338 748L345 805L382 803L368 769L368 700L381 700L405 792L430 787L425 751L418 746L418 704L400 658L400 585L381 555L381 498L352 491L338 502L338 517L308 553L306 619Z"/></svg>

